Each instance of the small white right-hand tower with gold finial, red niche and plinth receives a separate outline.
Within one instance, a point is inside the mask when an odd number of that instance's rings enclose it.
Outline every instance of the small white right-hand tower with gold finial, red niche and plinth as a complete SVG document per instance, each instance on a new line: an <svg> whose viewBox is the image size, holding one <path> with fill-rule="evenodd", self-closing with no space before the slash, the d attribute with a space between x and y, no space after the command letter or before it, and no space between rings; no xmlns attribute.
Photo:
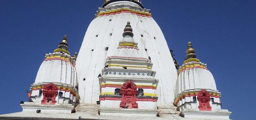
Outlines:
<svg viewBox="0 0 256 120"><path fill-rule="evenodd" d="M221 109L221 93L206 64L196 58L188 42L186 60L179 68L174 105L185 118L228 119L231 112Z"/></svg>

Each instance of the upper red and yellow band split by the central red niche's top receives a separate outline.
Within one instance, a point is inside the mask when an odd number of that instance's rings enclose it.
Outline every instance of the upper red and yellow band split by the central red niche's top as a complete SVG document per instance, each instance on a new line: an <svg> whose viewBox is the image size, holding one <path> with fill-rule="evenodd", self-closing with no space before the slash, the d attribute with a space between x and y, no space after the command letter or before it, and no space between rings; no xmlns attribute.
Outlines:
<svg viewBox="0 0 256 120"><path fill-rule="evenodd" d="M114 87L114 88L121 88L123 84L112 84L112 83L103 83L101 84L102 88L105 87ZM156 89L156 85L141 85L141 84L136 84L137 88L144 88L144 89Z"/></svg>

